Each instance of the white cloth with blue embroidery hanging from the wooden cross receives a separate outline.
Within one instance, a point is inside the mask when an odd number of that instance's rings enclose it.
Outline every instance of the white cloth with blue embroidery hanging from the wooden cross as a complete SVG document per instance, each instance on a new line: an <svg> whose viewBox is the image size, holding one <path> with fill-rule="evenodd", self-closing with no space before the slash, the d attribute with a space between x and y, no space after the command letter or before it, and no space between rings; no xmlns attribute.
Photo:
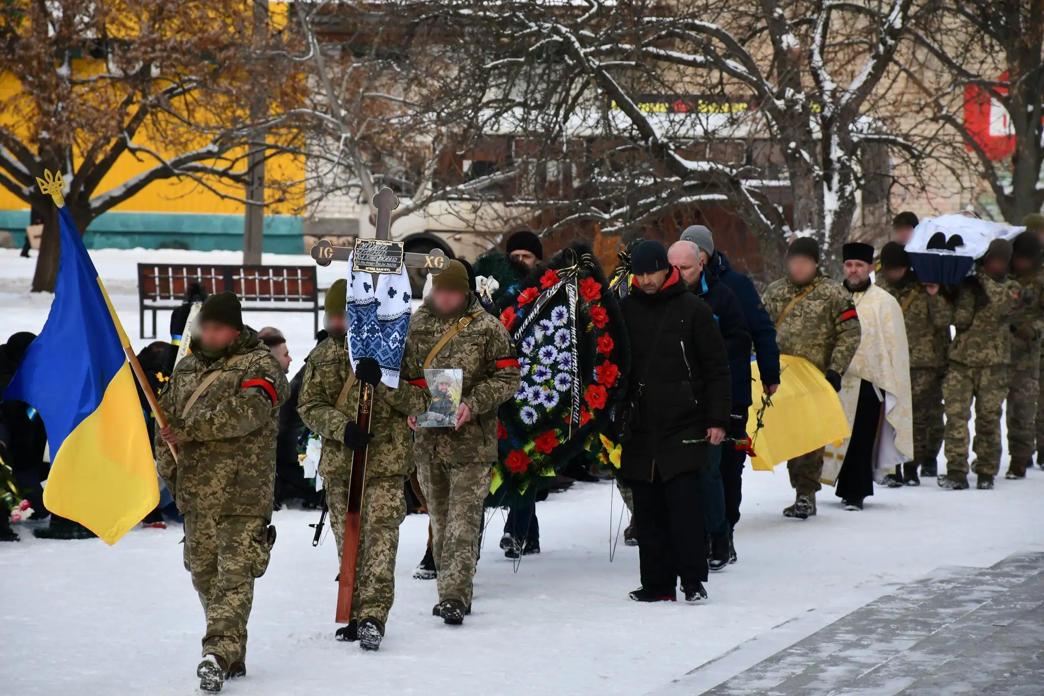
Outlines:
<svg viewBox="0 0 1044 696"><path fill-rule="evenodd" d="M382 273L377 287L369 272L352 270L353 251L348 259L348 354L352 369L359 358L373 358L381 365L381 382L395 389L399 386L402 354L409 332L409 277L403 265L398 275Z"/></svg>

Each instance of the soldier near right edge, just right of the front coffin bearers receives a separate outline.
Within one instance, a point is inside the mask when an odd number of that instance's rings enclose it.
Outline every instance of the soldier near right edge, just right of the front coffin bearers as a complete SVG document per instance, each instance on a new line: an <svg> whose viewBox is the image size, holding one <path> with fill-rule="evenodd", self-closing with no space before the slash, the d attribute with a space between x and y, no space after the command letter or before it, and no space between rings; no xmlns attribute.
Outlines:
<svg viewBox="0 0 1044 696"><path fill-rule="evenodd" d="M1022 306L1011 318L1012 362L1009 365L1007 453L1004 478L1023 479L1034 464L1035 421L1040 395L1041 333L1044 331L1044 271L1041 243L1033 233L1012 242L1012 280L1022 288Z"/></svg>

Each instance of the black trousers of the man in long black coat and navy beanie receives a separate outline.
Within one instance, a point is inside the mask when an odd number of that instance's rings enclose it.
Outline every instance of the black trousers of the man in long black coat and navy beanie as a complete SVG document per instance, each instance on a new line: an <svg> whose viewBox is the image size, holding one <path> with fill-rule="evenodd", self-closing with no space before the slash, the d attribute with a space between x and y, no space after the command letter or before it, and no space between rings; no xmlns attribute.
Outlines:
<svg viewBox="0 0 1044 696"><path fill-rule="evenodd" d="M673 595L682 586L707 580L699 474L687 472L669 481L631 479L642 586Z"/></svg>

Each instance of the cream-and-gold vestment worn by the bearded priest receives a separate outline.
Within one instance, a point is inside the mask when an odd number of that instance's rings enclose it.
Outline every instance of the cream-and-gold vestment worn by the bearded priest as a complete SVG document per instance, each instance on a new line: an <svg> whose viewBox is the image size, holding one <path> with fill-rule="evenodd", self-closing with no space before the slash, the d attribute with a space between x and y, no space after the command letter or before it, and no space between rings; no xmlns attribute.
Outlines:
<svg viewBox="0 0 1044 696"><path fill-rule="evenodd" d="M887 291L871 285L853 297L859 314L862 338L852 358L838 398L849 427L855 423L859 385L867 380L884 401L884 417L878 429L874 467L887 469L914 459L914 408L910 404L909 347L903 310ZM840 447L827 446L823 462L824 483L837 479L849 438Z"/></svg>

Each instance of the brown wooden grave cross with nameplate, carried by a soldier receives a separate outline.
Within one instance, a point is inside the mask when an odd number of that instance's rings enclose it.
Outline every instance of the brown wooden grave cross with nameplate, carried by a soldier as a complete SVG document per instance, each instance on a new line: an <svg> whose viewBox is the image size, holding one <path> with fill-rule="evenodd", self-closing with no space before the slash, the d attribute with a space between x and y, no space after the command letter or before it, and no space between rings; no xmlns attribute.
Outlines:
<svg viewBox="0 0 1044 696"><path fill-rule="evenodd" d="M355 251L354 268L359 267L359 258L366 255L367 268L381 268L372 272L373 288L377 288L377 277L381 272L399 273L402 266L427 268L431 273L441 273L449 265L449 258L442 249L428 254L404 253L402 242L390 240L392 211L399 207L399 198L392 189L382 188L373 199L377 209L376 235L370 239L357 239L355 247L333 246L323 240L312 247L312 258L321 266L329 266L333 261L348 261ZM371 415L374 409L374 387L359 383L359 407L355 422L365 432L370 432ZM345 515L345 544L340 555L340 578L337 585L337 613L335 621L347 624L352 621L352 596L355 594L355 571L359 559L359 533L362 529L362 493L366 483L366 454L369 447L352 452L352 475L348 485L348 512Z"/></svg>

